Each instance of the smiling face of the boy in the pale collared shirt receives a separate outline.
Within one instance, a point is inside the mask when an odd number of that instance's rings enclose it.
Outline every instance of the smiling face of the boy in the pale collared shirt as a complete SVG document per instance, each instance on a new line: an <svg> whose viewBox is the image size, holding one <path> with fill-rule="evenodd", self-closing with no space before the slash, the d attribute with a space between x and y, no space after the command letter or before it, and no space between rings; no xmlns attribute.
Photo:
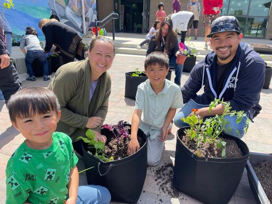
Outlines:
<svg viewBox="0 0 272 204"><path fill-rule="evenodd" d="M156 87L164 87L164 80L168 74L169 68L165 66L160 66L158 63L147 66L145 73L148 77L150 84L154 88Z"/></svg>

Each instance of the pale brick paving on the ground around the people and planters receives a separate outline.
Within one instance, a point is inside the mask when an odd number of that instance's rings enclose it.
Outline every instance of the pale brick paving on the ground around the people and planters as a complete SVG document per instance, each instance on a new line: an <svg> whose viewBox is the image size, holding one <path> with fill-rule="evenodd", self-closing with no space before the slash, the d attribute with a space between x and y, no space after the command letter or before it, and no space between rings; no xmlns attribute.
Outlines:
<svg viewBox="0 0 272 204"><path fill-rule="evenodd" d="M119 120L131 121L134 111L135 100L125 98L125 72L134 71L135 68L143 70L144 56L117 54L111 69L108 71L112 78L112 91L109 99L109 111L105 123L116 123ZM51 75L53 76L53 75ZM188 78L188 73L183 73L181 77L181 86ZM24 79L23 76L21 76ZM172 73L172 81L175 74ZM38 78L36 82L24 81L23 86L42 86L46 87L49 82L44 82L42 78ZM254 82L252 82L254 83ZM272 86L271 86L272 87ZM243 141L252 152L272 153L272 89L263 89L261 93L261 106L263 110L250 123L247 134L243 137ZM173 127L171 135L166 141L165 151L163 152L162 161L156 167L157 169L164 163L170 163L175 160L176 136L178 130ZM14 150L24 141L24 137L11 126L8 111L3 101L0 101L0 204L5 201L5 166L14 152ZM84 169L83 160L79 161L79 170ZM150 168L150 167L149 167ZM158 185L154 181L155 175L151 170L147 171L145 184L138 204L200 204L200 202L189 196L182 194L180 198L169 197L166 193L162 193L158 189ZM80 175L80 184L87 184L85 174ZM118 202L111 202L118 204ZM244 171L241 182L230 200L229 204L255 204L252 192L250 190L246 170Z"/></svg>

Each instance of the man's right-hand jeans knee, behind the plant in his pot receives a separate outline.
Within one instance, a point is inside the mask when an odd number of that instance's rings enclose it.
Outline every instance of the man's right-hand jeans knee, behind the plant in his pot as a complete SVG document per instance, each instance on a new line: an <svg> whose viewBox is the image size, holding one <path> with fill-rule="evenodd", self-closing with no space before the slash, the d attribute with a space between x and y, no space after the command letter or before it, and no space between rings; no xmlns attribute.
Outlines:
<svg viewBox="0 0 272 204"><path fill-rule="evenodd" d="M248 115L248 113L247 113ZM244 117L241 122L237 123L237 117L229 115L224 117L229 123L226 124L224 131L226 134L229 134L234 137L242 138L245 134L246 120L247 117Z"/></svg>

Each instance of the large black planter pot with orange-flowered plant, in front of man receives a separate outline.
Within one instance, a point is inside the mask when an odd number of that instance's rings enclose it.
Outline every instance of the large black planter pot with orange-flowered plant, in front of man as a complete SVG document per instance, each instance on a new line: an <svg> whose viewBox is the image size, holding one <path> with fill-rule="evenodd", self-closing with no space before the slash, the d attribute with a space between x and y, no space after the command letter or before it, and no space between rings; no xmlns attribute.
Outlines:
<svg viewBox="0 0 272 204"><path fill-rule="evenodd" d="M177 132L174 187L204 204L227 204L244 171L249 150L246 144L230 135L244 156L235 159L200 158L181 142L184 128ZM181 138L180 138L181 137Z"/></svg>

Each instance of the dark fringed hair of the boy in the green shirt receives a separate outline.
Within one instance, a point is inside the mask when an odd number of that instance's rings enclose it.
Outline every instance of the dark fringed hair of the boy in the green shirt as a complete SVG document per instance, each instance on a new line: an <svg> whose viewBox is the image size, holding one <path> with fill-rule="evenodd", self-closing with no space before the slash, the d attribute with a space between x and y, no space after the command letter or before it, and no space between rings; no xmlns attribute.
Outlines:
<svg viewBox="0 0 272 204"><path fill-rule="evenodd" d="M53 91L43 87L25 87L13 94L7 103L10 121L28 118L34 114L60 111L60 105Z"/></svg>

